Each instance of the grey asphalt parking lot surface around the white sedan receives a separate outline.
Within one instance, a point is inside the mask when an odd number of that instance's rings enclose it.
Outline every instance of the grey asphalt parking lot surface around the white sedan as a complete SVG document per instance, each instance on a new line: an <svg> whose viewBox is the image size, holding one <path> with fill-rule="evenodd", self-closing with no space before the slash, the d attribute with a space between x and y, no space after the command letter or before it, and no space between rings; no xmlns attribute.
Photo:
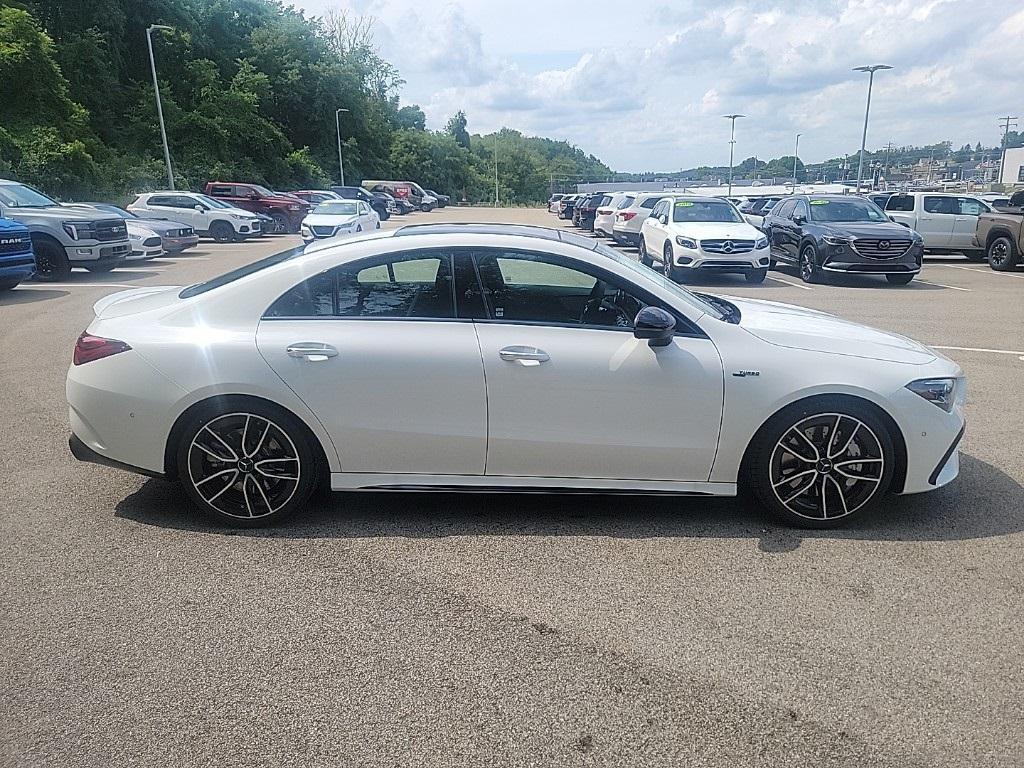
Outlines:
<svg viewBox="0 0 1024 768"><path fill-rule="evenodd" d="M385 226L445 220L565 225ZM1024 765L1024 271L700 284L914 337L970 377L959 479L835 531L742 499L404 494L228 530L72 459L93 302L297 242L0 296L0 765Z"/></svg>

